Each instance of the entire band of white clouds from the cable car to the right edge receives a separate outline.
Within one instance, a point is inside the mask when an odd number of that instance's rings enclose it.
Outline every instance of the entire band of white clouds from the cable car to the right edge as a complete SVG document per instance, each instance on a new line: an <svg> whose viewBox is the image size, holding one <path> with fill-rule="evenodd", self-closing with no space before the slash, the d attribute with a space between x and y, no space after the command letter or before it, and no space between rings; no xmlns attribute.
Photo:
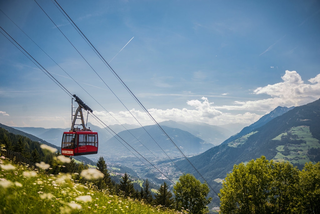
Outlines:
<svg viewBox="0 0 320 214"><path fill-rule="evenodd" d="M310 78L310 84L304 83L301 76L296 71L285 71L281 77L282 82L259 87L253 91L253 94L267 94L268 99L255 101L235 101L234 105L214 106L208 101L208 98L202 97L201 100L187 101L188 108L172 109L148 109L148 112L157 122L165 120L183 121L183 122L205 122L212 125L222 125L227 123L253 123L260 119L262 115L251 113L249 111L262 111L262 114L268 113L277 106L299 106L319 99L320 96L320 74L315 78ZM223 94L224 95L224 94ZM224 110L242 110L245 113L229 113ZM118 113L107 113L105 111L94 112L107 125L112 124L137 124L153 125L153 121L147 113L132 109L129 111L120 111ZM118 120L116 120L116 119ZM94 125L100 125L92 121Z"/></svg>

